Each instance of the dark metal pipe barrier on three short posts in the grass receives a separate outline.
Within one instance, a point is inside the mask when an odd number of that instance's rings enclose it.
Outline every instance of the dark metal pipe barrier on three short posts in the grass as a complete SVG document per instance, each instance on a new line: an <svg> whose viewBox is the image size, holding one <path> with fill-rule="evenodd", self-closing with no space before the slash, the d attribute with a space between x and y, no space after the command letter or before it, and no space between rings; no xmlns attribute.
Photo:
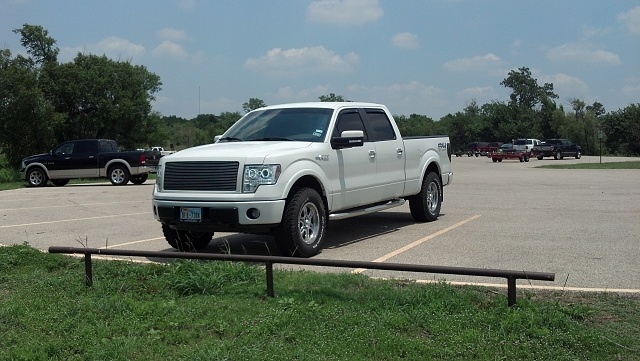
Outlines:
<svg viewBox="0 0 640 361"><path fill-rule="evenodd" d="M257 256L257 255L236 255L236 254L213 254L213 253L193 253L193 252L158 252L158 251L137 251L118 250L101 248L77 248L77 247L49 247L49 253L64 254L84 254L86 284L93 285L91 255L100 254L105 256L130 256L130 257L153 257L153 258L182 258L182 259L203 259L210 261L235 261L264 263L267 277L267 295L274 297L273 291L273 265L275 263L297 264L305 266L341 267L341 268L365 268L387 271L407 271L421 273L439 273L464 276L497 277L507 279L507 299L509 306L516 304L516 280L528 279L538 281L553 281L555 273L547 272L527 272L501 269L467 268L467 267L447 267L447 266L427 266L406 263L380 263L365 261L343 261L331 259L296 258L279 256Z"/></svg>

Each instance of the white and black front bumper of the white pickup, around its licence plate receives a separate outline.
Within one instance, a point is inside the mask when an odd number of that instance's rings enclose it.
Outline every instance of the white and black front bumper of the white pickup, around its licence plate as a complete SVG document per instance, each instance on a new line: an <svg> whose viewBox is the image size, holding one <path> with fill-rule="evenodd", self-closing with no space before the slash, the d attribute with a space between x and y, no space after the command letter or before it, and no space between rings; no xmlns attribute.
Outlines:
<svg viewBox="0 0 640 361"><path fill-rule="evenodd" d="M259 202L178 202L153 199L153 215L176 229L207 232L262 232L280 224L285 200ZM184 208L201 210L196 221L181 219Z"/></svg>

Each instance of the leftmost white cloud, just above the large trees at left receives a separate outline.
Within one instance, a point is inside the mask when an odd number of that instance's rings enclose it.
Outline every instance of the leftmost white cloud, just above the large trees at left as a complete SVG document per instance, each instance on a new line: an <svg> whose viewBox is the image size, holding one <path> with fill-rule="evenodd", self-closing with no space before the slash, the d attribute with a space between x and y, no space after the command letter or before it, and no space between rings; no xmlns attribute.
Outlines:
<svg viewBox="0 0 640 361"><path fill-rule="evenodd" d="M83 47L63 47L60 49L60 60L71 60L78 53L105 55L113 60L132 60L143 56L146 52L144 46L134 44L126 39L115 36L108 37L97 43L87 44Z"/></svg>

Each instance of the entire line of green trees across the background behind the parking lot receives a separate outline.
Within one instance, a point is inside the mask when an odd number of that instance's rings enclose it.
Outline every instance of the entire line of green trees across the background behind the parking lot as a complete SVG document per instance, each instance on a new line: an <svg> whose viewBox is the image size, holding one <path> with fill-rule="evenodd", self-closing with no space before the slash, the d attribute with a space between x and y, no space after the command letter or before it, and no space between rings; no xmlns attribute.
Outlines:
<svg viewBox="0 0 640 361"><path fill-rule="evenodd" d="M60 63L56 41L43 27L24 24L13 32L27 56L0 49L0 155L11 167L69 139L115 139L125 149L207 144L242 116L163 116L151 107L162 82L146 67L83 53ZM600 142L605 154L640 155L640 103L607 113L599 102L572 99L564 109L555 102L553 84L538 84L527 67L510 71L500 85L511 89L506 101L471 100L437 121L419 114L394 117L403 135L447 134L454 148L473 141L569 138L585 155L599 154ZM334 93L318 99L348 101ZM250 98L242 109L265 105Z"/></svg>

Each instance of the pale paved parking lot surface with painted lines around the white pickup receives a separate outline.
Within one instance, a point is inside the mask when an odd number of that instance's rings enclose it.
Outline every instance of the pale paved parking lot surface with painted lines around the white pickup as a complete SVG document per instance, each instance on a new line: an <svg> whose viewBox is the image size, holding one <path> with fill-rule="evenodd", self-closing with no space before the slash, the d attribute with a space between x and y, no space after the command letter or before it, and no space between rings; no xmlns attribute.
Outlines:
<svg viewBox="0 0 640 361"><path fill-rule="evenodd" d="M603 158L605 161L626 160ZM636 159L637 160L637 159ZM640 293L640 171L541 169L453 158L441 217L417 224L408 204L329 224L325 259L554 272L530 287ZM0 243L171 250L151 212L152 183L0 192ZM279 255L270 237L216 233L206 252ZM326 269L317 269L319 271ZM360 272L361 270L357 270ZM379 277L504 284L500 279L362 271Z"/></svg>

